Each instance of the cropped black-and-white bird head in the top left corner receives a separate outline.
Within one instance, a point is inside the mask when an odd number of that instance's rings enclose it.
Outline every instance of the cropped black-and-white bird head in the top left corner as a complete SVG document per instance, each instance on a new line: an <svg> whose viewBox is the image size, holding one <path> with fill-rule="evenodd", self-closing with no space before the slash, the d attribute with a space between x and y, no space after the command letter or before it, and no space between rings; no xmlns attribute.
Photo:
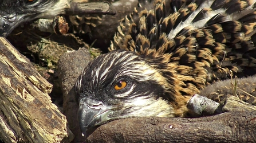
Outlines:
<svg viewBox="0 0 256 143"><path fill-rule="evenodd" d="M51 19L68 7L67 0L2 0L0 2L0 36L7 36L19 24L37 18Z"/></svg>

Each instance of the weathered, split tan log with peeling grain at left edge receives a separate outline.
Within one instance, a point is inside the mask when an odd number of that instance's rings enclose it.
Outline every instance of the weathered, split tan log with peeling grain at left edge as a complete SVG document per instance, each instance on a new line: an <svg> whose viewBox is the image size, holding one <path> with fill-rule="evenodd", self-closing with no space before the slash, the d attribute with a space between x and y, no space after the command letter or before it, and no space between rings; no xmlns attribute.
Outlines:
<svg viewBox="0 0 256 143"><path fill-rule="evenodd" d="M52 85L0 37L0 138L4 142L70 142L66 118L52 104Z"/></svg>

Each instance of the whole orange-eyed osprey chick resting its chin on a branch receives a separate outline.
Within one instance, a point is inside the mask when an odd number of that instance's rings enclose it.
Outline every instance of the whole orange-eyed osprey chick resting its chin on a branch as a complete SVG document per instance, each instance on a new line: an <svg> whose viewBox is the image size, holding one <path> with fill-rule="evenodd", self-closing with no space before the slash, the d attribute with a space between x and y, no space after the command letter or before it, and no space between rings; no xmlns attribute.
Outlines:
<svg viewBox="0 0 256 143"><path fill-rule="evenodd" d="M120 22L75 85L82 134L128 117L184 117L208 83L256 70L255 1L155 1Z"/></svg>

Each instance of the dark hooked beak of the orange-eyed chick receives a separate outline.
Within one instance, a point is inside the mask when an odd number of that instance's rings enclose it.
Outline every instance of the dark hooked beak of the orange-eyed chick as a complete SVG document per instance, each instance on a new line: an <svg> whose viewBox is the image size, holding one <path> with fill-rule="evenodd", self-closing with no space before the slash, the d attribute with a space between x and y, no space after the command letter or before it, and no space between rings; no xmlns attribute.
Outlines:
<svg viewBox="0 0 256 143"><path fill-rule="evenodd" d="M82 98L78 108L78 123L82 136L85 136L86 130L93 126L104 124L109 120L111 107L101 101L95 101L86 97Z"/></svg>

